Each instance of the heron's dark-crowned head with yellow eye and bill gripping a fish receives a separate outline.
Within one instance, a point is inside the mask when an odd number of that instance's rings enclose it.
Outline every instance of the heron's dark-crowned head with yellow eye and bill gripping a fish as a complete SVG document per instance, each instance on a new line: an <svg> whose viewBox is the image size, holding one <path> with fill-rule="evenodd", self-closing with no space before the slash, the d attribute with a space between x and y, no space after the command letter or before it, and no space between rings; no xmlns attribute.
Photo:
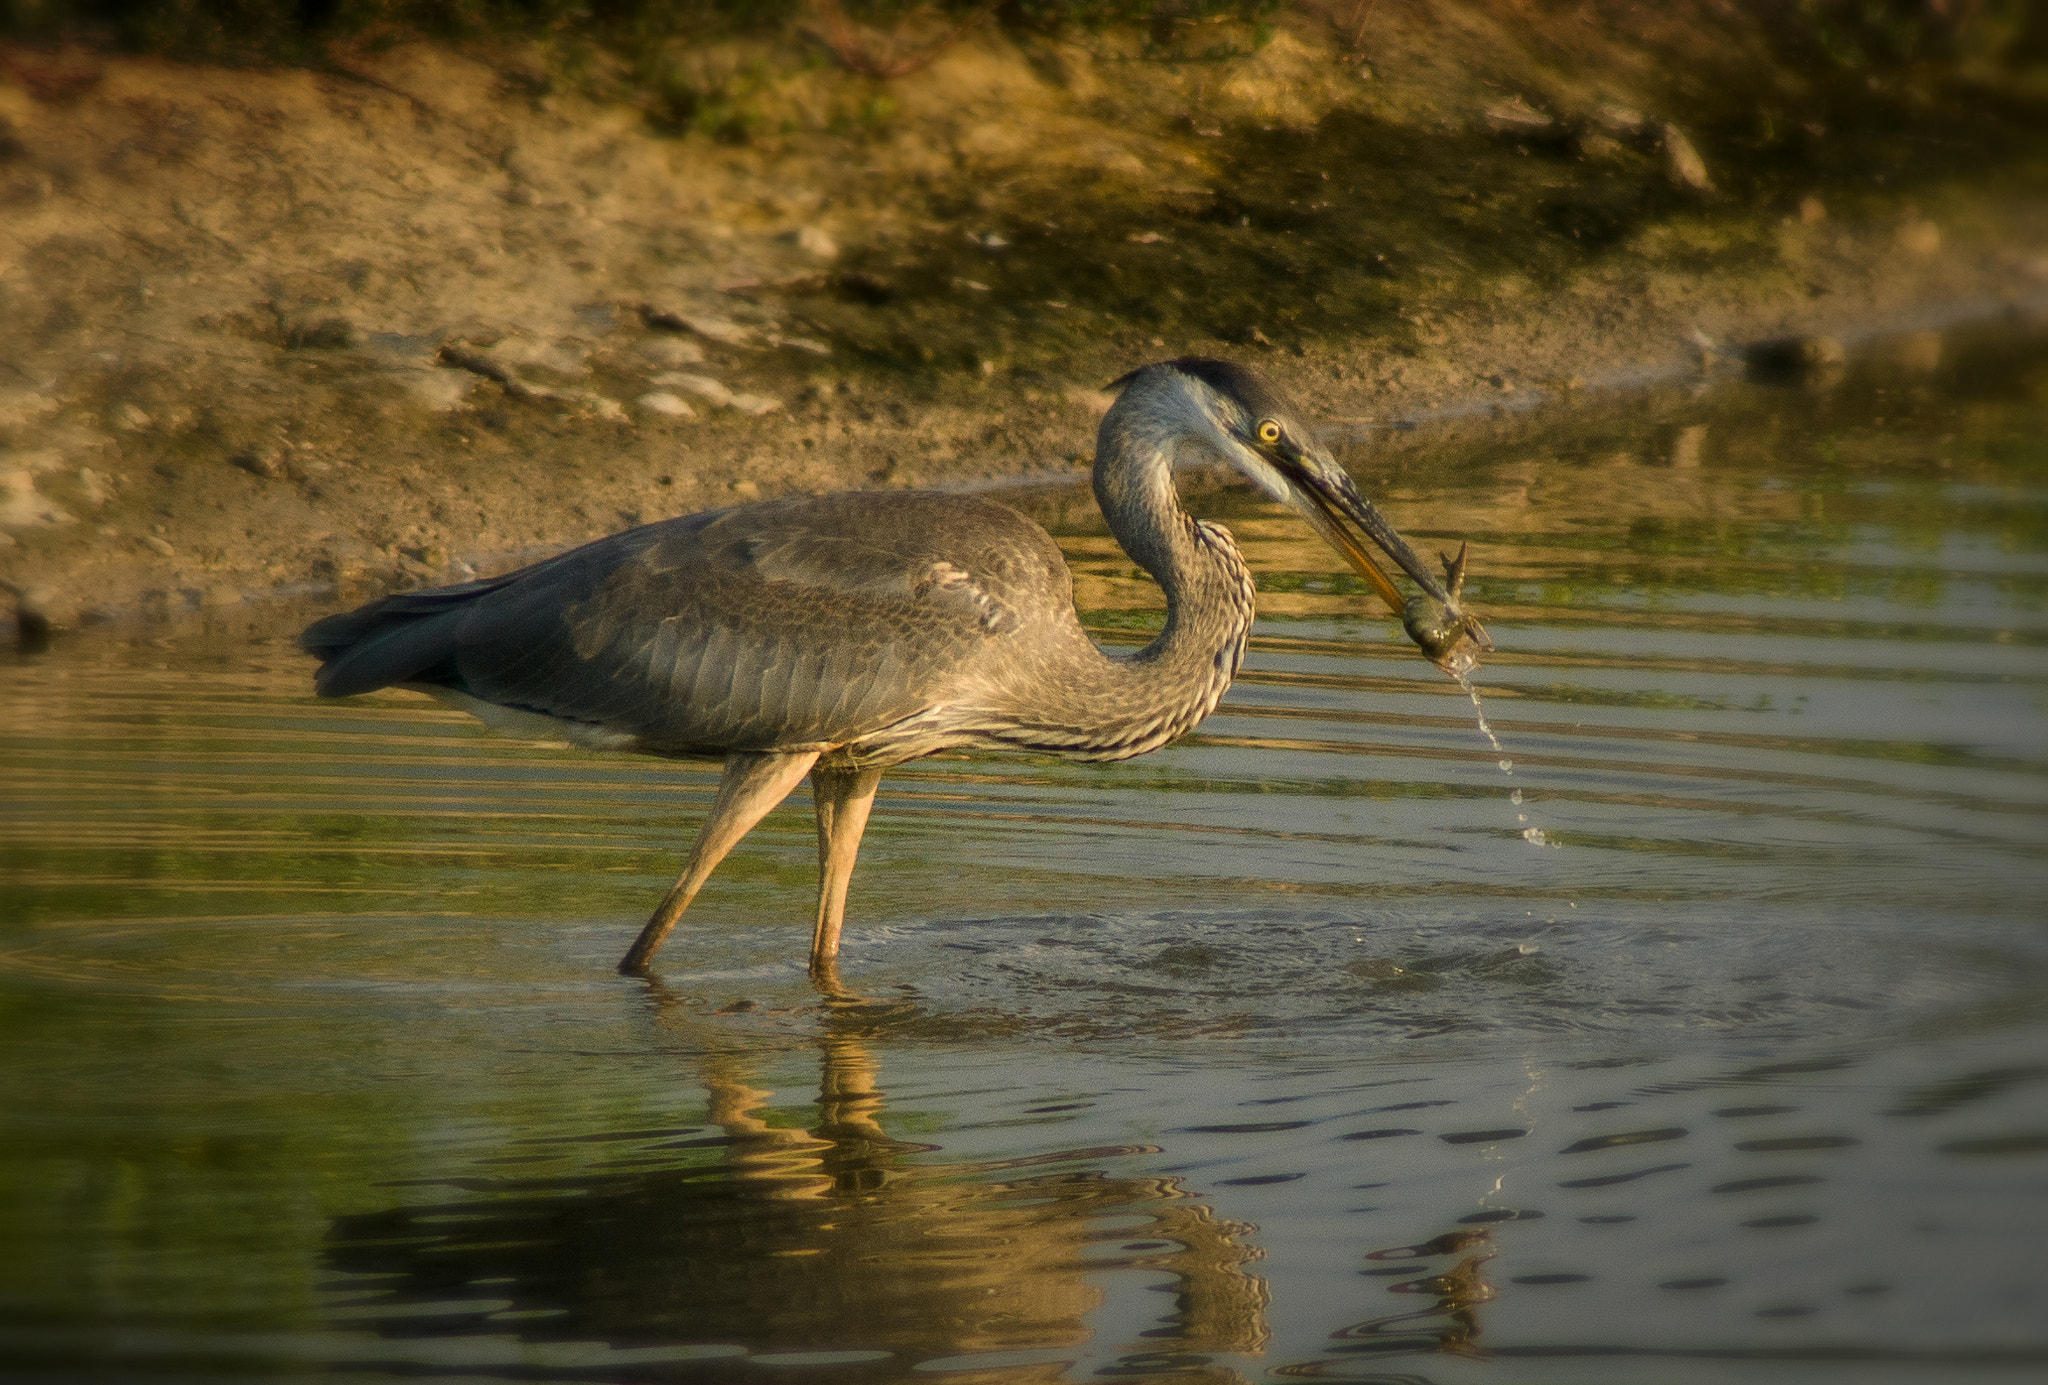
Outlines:
<svg viewBox="0 0 2048 1385"><path fill-rule="evenodd" d="M1493 647L1479 621L1458 604L1464 553L1444 559L1448 584L1430 572L1378 506L1358 494L1358 486L1309 430L1292 400L1262 375L1235 361L1182 356L1141 367L1116 385L1124 387L1120 404L1143 410L1155 426L1169 428L1182 440L1206 445L1268 496L1309 520L1403 617L1409 635L1432 660L1462 672L1477 662L1477 649ZM1423 594L1405 596L1360 543L1360 535L1413 578Z"/></svg>

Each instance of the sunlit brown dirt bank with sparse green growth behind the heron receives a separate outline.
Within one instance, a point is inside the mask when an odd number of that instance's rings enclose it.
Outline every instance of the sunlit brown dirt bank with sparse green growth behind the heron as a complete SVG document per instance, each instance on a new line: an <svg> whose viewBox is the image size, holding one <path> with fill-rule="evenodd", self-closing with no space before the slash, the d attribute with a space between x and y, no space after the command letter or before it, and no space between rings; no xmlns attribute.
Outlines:
<svg viewBox="0 0 2048 1385"><path fill-rule="evenodd" d="M2019 80L1712 4L1360 12L887 84L733 41L659 100L526 47L0 49L0 580L57 627L356 596L1067 469L1165 354L1384 420L2048 287Z"/></svg>

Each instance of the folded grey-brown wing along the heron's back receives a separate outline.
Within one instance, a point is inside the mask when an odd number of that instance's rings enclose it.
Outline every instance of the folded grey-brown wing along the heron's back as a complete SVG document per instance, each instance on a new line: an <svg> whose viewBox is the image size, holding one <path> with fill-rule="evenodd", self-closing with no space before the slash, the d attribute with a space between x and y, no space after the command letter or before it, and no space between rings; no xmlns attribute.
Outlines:
<svg viewBox="0 0 2048 1385"><path fill-rule="evenodd" d="M743 506L475 586L389 608L414 629L365 633L365 664L676 750L854 740L969 690L1061 588L1071 611L1044 531L944 496ZM322 690L360 690L350 658Z"/></svg>

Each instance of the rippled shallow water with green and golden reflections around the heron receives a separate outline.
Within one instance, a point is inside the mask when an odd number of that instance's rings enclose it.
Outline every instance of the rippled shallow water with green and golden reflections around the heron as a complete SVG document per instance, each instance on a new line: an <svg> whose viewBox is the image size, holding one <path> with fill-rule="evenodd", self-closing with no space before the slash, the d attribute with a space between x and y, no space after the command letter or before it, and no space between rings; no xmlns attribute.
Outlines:
<svg viewBox="0 0 2048 1385"><path fill-rule="evenodd" d="M8 1379L2040 1379L2044 418L1964 334L1352 440L1511 779L1194 475L1245 676L891 774L831 1006L803 793L647 983L709 768L315 703L307 613L4 664Z"/></svg>

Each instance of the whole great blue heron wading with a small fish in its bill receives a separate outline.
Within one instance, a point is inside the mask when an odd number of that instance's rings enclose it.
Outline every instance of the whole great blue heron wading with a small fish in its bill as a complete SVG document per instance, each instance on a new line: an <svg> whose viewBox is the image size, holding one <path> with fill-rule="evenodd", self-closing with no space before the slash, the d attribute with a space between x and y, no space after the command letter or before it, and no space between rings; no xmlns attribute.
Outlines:
<svg viewBox="0 0 2048 1385"><path fill-rule="evenodd" d="M1358 494L1300 414L1229 361L1147 365L1116 381L1096 443L1110 533L1165 590L1165 629L1104 654L1073 611L1053 539L991 500L836 494L643 524L532 568L385 596L301 635L322 697L401 686L522 736L659 756L723 756L688 865L618 963L641 973L705 877L797 781L817 805L811 973L829 977L846 883L881 774L938 750L1122 760L1165 746L1231 684L1253 588L1229 531L1174 492L1208 451L1286 502L1446 668L1489 647ZM1346 527L1423 590L1401 590Z"/></svg>

